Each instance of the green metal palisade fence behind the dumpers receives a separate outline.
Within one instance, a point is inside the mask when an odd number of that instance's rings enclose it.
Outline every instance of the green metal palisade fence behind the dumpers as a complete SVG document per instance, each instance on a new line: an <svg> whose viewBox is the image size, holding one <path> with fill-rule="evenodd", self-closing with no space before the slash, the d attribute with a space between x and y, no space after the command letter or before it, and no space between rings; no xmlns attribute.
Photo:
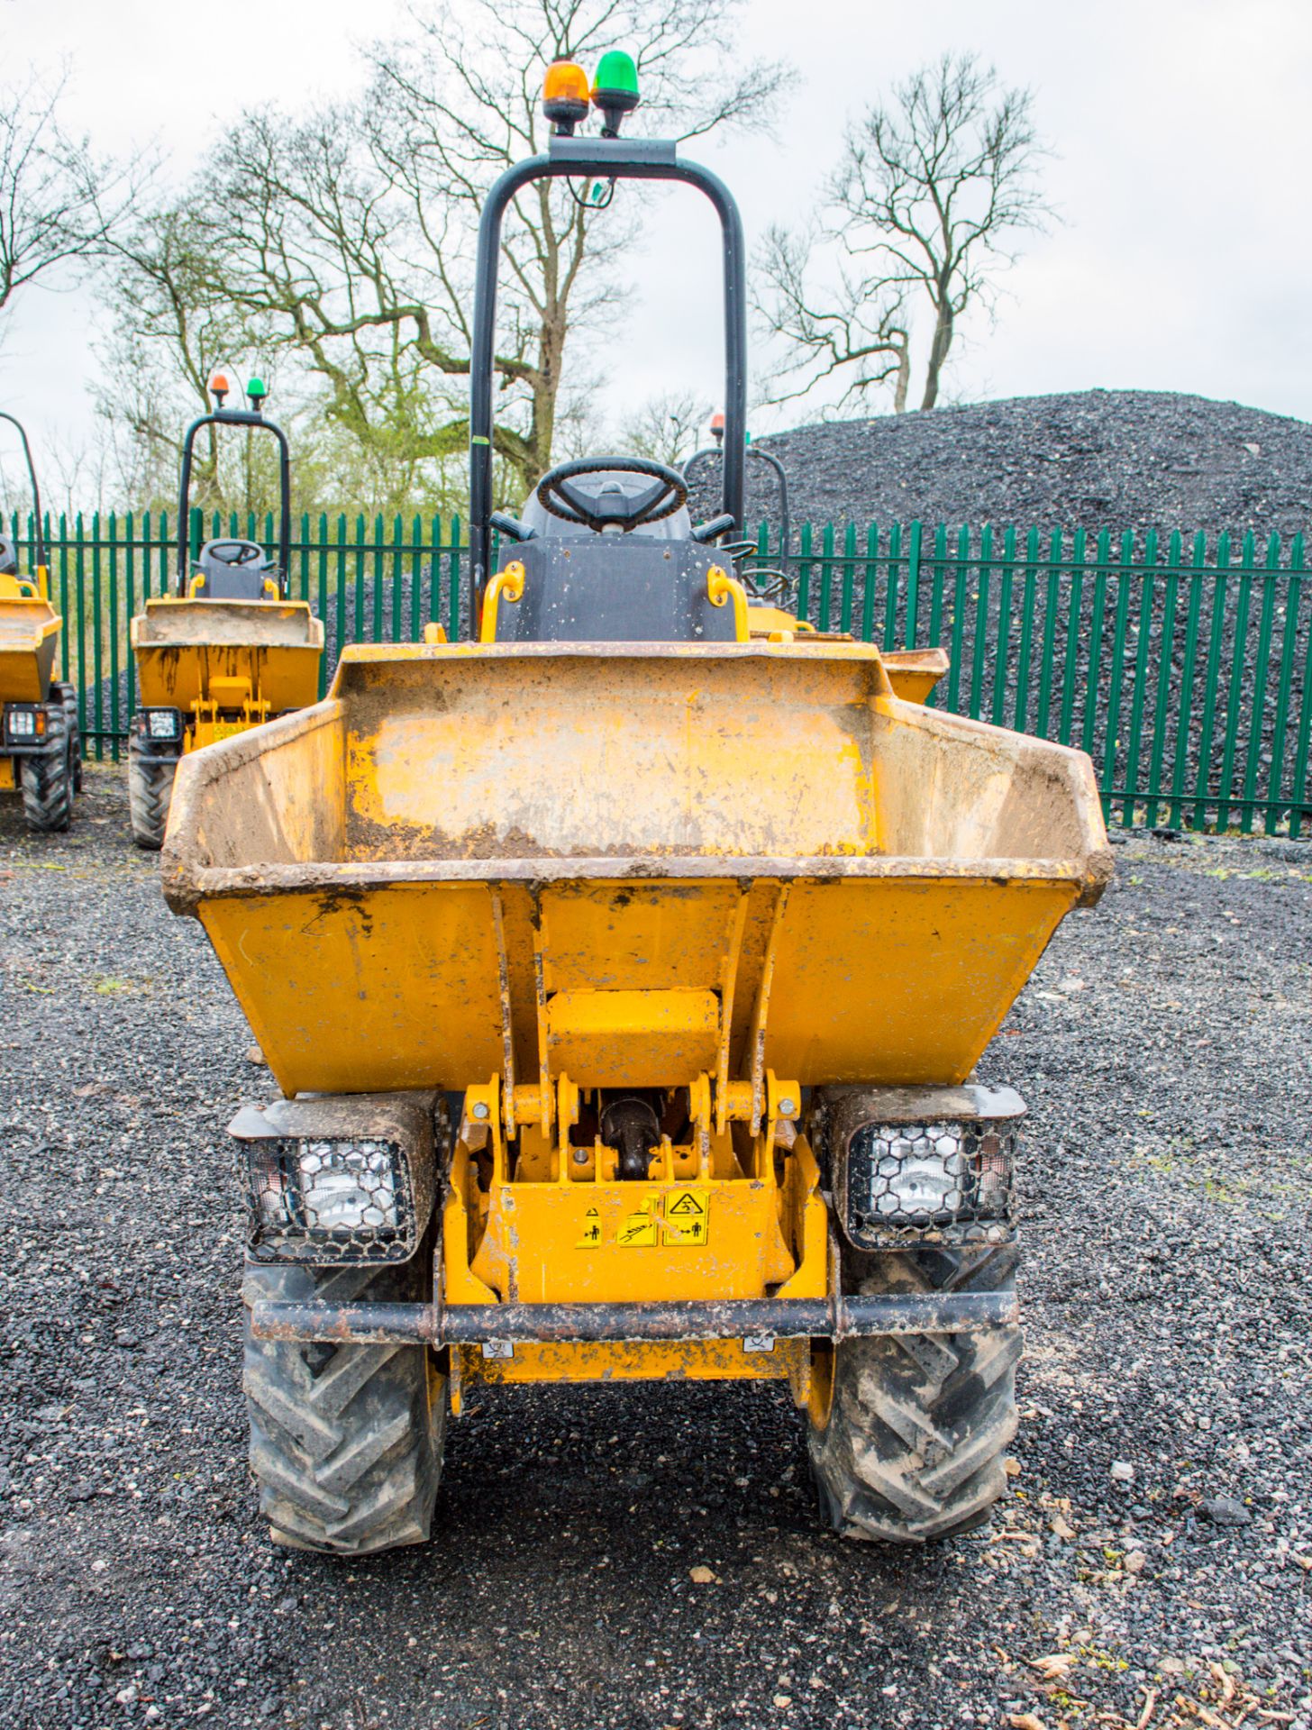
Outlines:
<svg viewBox="0 0 1312 1730"><path fill-rule="evenodd" d="M466 547L459 517L301 516L291 593L348 642L453 640ZM273 541L268 519L203 521L189 540ZM12 519L31 541L31 521ZM95 758L118 759L137 692L128 621L166 593L166 514L48 519L64 616L61 676L78 687ZM767 524L760 562L774 564ZM1312 578L1303 536L1111 536L921 522L803 524L789 550L798 614L884 649L942 644L929 699L1087 751L1109 822L1312 832Z"/></svg>

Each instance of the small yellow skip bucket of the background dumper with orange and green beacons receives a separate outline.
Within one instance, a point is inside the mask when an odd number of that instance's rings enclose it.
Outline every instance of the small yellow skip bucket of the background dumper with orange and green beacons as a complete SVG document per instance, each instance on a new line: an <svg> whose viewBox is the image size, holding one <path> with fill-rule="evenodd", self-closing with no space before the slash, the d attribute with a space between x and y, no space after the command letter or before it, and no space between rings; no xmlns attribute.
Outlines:
<svg viewBox="0 0 1312 1730"><path fill-rule="evenodd" d="M140 701L187 709L248 683L279 714L318 695L324 625L305 600L147 600L132 621Z"/></svg>

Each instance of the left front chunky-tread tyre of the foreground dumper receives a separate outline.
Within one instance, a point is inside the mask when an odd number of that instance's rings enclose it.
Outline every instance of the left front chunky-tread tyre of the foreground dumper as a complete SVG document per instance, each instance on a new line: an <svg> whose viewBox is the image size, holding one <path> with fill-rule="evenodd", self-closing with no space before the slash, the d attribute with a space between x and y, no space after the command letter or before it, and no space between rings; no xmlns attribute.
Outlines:
<svg viewBox="0 0 1312 1730"><path fill-rule="evenodd" d="M398 1268L246 1268L244 1296L412 1303L422 1251ZM428 1346L294 1346L246 1322L251 1470L273 1543L369 1555L426 1543L441 1476L447 1381Z"/></svg>

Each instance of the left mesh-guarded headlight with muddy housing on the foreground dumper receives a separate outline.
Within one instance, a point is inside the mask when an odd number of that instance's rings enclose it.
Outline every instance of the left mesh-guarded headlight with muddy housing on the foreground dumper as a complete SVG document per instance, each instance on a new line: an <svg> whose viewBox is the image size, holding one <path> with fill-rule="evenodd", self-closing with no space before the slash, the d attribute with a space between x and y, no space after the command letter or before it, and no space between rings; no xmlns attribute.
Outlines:
<svg viewBox="0 0 1312 1730"><path fill-rule="evenodd" d="M431 1102L431 1093L376 1095L239 1112L232 1133L246 1152L253 1258L405 1261L433 1208ZM351 1135L351 1119L365 1133Z"/></svg>

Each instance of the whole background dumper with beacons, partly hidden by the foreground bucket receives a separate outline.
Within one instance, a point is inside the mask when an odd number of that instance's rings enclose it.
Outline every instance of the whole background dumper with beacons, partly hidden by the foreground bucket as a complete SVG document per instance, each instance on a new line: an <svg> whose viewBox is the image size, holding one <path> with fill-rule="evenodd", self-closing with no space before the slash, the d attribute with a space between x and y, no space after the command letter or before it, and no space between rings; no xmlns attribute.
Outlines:
<svg viewBox="0 0 1312 1730"><path fill-rule="evenodd" d="M287 434L263 415L265 386L251 379L246 408L223 408L228 384L211 381L218 407L187 427L178 497L177 593L147 600L130 626L140 708L128 734L128 806L138 848L159 849L173 777L190 751L301 709L318 695L324 625L287 597L291 455ZM192 564L192 452L208 426L261 427L279 445L279 557L248 540L211 540Z"/></svg>

